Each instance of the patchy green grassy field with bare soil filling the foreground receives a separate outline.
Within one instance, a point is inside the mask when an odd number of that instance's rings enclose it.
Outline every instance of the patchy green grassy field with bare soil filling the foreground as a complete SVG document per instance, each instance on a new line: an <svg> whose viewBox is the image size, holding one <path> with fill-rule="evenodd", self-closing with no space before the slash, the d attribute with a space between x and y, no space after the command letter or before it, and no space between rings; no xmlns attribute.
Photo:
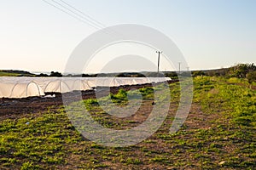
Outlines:
<svg viewBox="0 0 256 170"><path fill-rule="evenodd" d="M178 82L170 84L172 103L166 121L150 138L125 148L84 139L63 107L1 120L0 169L253 169L256 92L251 84L237 81L195 77L189 116L175 134L170 134L169 128L180 89ZM84 105L105 127L135 127L144 121L154 101L152 88L140 92L144 109L132 119L108 116L96 99L84 100ZM123 90L111 97L119 105L127 103Z"/></svg>

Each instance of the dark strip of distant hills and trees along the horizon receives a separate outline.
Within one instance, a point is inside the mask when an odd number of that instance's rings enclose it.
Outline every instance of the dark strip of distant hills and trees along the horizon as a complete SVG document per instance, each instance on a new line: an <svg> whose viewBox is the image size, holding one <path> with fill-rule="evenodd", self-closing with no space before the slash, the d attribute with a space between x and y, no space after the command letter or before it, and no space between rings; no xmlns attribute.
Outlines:
<svg viewBox="0 0 256 170"><path fill-rule="evenodd" d="M179 74L176 71L164 71L165 77L178 79ZM190 72L181 71L183 76L190 76ZM249 82L256 82L256 65L238 64L229 68L191 71L193 77L197 76L216 76L216 77L237 77L247 78ZM157 72L119 72L119 73L98 73L98 74L79 74L79 75L62 75L60 72L51 71L50 74L33 74L28 71L0 70L0 77L161 77Z"/></svg>

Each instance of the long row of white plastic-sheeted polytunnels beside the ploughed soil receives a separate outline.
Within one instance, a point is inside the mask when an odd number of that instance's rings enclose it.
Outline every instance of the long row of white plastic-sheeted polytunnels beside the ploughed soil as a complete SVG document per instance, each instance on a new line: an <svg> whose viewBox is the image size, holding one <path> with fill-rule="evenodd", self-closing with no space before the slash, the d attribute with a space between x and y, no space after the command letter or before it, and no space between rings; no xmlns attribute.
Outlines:
<svg viewBox="0 0 256 170"><path fill-rule="evenodd" d="M171 80L168 77L0 77L0 98L26 98L96 87L119 87Z"/></svg>

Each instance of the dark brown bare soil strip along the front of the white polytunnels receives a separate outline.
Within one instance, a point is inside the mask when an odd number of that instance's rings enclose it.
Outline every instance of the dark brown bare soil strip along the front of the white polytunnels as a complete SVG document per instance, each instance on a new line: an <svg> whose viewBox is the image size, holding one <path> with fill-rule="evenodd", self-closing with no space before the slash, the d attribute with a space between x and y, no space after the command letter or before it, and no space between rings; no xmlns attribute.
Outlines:
<svg viewBox="0 0 256 170"><path fill-rule="evenodd" d="M177 82L177 81L169 81L169 83L172 83L172 82ZM152 87L152 84L113 87L113 88L110 88L110 91L112 94L116 94L119 91L119 88L130 90L130 89L139 89L139 88L146 88L146 87ZM100 96L108 95L108 91L106 91L106 88L96 88L96 89L99 90L98 94ZM82 95L78 94L78 92L69 93L70 96L72 96L71 101L79 100L81 99L81 96L82 96L82 99L96 99L95 90L88 90L88 91L83 91L79 93L81 93ZM49 93L49 94L55 94L55 98L29 97L24 99L4 99L4 98L0 99L0 120L16 117L17 115L20 115L20 114L44 112L44 111L47 111L49 107L52 107L52 109L53 108L57 109L59 108L60 105L63 105L61 94L59 93Z"/></svg>

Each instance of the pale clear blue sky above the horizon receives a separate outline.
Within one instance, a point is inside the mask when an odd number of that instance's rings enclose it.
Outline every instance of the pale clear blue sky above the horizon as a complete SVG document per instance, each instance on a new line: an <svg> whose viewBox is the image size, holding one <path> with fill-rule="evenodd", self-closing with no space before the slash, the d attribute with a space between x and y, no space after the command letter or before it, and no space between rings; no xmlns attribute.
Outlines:
<svg viewBox="0 0 256 170"><path fill-rule="evenodd" d="M163 32L190 70L256 60L255 0L63 1L104 26L131 23ZM43 0L1 1L0 22L0 69L63 71L73 49L98 30Z"/></svg>

